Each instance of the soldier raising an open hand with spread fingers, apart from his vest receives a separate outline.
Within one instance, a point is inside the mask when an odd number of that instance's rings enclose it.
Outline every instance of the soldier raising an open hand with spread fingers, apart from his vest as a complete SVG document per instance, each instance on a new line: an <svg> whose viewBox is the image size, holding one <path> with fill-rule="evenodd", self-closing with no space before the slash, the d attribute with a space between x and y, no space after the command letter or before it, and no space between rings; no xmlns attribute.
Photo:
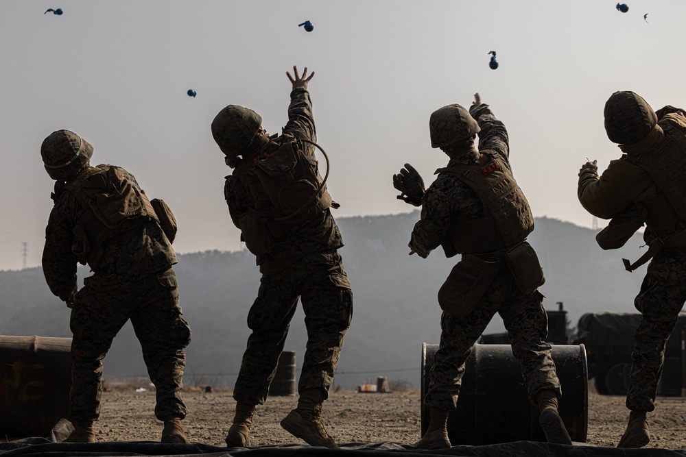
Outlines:
<svg viewBox="0 0 686 457"><path fill-rule="evenodd" d="M281 136L269 136L261 128L261 117L240 106L230 105L215 117L213 136L226 154L226 164L234 168L226 177L224 194L233 223L241 229L246 244L257 255L262 273L257 299L248 312L252 334L243 356L233 397L236 413L228 434L228 447L250 445L250 426L255 405L264 404L270 382L283 350L290 320L298 298L303 304L307 327L307 349L298 382L298 408L281 421L287 431L311 445L337 447L320 421L322 402L329 396L333 372L353 313L353 294L337 250L343 240L329 208L314 211L297 230L279 233L282 225L270 219L269 246L257 251L250 245L255 234L241 225L246 215L264 201L262 184L246 175L256 162L281 151L283 143L299 138L316 141L312 105L306 78L288 77L293 84L288 107L288 123ZM316 169L314 147L303 143L304 157ZM328 195L328 193L327 193ZM271 203L267 203L271 208ZM331 202L331 206L338 204ZM274 234L277 232L278 234ZM258 243L262 240L258 239Z"/></svg>

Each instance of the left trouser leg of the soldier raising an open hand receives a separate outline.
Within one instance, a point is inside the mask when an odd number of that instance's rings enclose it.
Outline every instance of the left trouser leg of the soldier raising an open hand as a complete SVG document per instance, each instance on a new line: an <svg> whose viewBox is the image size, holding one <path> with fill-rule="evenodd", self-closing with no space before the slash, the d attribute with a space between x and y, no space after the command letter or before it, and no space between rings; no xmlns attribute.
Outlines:
<svg viewBox="0 0 686 457"><path fill-rule="evenodd" d="M248 347L243 354L233 398L242 404L264 404L298 304L289 272L263 275L248 312Z"/></svg>

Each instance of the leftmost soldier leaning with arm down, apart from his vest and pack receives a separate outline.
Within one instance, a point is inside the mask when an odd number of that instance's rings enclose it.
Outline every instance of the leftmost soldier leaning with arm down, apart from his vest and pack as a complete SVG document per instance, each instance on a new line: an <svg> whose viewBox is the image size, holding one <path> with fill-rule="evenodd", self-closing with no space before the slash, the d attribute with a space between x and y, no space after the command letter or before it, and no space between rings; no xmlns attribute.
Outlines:
<svg viewBox="0 0 686 457"><path fill-rule="evenodd" d="M117 170L135 194L144 197L145 193L126 170L108 165L91 167L93 147L68 130L45 138L40 152L45 169L56 180L54 208L45 230L43 273L52 293L71 308L69 419L75 430L67 441L95 440L93 421L100 414L102 359L117 332L131 319L156 387L155 415L165 421L162 441L187 443L180 425L186 415L181 391L183 348L190 342L191 332L181 317L171 243L156 219L138 215L123 222L129 224L125 228L119 225L104 235L102 248L97 249L93 238L97 234L84 231L88 218L96 215L86 200L78 197L77 186L98 171ZM137 214L133 208L128 210ZM80 290L77 260L87 262L93 271Z"/></svg>

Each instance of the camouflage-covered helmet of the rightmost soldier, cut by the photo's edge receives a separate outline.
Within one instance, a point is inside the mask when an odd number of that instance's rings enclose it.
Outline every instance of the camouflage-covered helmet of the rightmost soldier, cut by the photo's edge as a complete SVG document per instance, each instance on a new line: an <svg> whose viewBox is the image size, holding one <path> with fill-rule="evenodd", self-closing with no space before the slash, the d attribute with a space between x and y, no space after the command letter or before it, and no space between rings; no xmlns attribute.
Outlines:
<svg viewBox="0 0 686 457"><path fill-rule="evenodd" d="M605 103L605 132L610 141L632 145L646 138L657 124L657 114L640 95L615 92Z"/></svg>

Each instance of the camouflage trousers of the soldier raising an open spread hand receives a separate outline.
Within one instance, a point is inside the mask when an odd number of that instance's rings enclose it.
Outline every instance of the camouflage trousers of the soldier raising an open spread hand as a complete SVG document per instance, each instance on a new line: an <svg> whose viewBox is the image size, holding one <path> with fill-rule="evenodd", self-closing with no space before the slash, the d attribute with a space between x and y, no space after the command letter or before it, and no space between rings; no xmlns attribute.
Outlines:
<svg viewBox="0 0 686 457"><path fill-rule="evenodd" d="M353 316L353 293L339 254L311 254L273 275L262 275L248 312L248 347L233 397L264 404L298 304L305 312L307 347L298 392L316 389L329 397L333 371Z"/></svg>

